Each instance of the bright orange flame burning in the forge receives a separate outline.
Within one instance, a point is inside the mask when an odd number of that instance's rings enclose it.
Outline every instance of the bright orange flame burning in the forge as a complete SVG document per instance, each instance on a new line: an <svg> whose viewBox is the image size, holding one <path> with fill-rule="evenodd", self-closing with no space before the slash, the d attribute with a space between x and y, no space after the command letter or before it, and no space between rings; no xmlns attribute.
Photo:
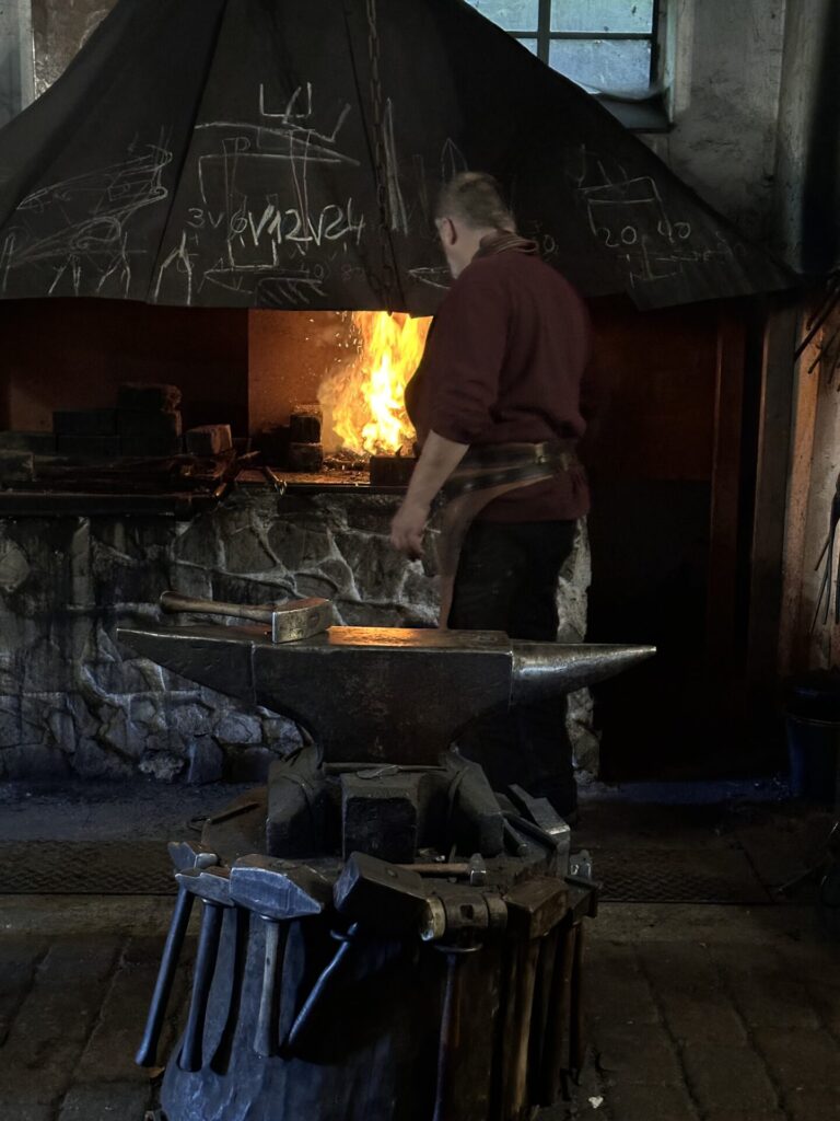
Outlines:
<svg viewBox="0 0 840 1121"><path fill-rule="evenodd" d="M430 323L401 313L353 313L357 356L326 378L318 392L342 447L358 455L393 455L411 445L414 429L403 399Z"/></svg>

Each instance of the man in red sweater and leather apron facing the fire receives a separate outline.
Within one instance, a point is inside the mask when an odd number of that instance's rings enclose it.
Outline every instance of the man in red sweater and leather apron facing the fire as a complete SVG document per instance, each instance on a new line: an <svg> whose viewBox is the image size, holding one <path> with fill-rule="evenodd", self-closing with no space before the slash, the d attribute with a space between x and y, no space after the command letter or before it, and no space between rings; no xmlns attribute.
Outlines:
<svg viewBox="0 0 840 1121"><path fill-rule="evenodd" d="M391 540L419 557L442 489L440 626L552 641L558 575L589 509L575 456L588 316L517 235L489 175L452 179L436 225L455 282L405 392L422 452ZM564 698L514 710L458 744L495 789L517 782L561 814L575 810Z"/></svg>

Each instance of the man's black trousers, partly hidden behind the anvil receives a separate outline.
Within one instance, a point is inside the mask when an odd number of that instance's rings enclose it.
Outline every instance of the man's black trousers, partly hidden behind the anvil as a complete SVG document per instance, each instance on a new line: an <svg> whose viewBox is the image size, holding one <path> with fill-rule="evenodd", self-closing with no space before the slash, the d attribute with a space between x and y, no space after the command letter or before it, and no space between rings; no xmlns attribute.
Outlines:
<svg viewBox="0 0 840 1121"><path fill-rule="evenodd" d="M449 627L553 642L557 582L575 527L573 521L473 522L458 563ZM484 767L495 790L515 782L569 814L577 790L566 711L566 697L520 705L470 724L458 736L458 748Z"/></svg>

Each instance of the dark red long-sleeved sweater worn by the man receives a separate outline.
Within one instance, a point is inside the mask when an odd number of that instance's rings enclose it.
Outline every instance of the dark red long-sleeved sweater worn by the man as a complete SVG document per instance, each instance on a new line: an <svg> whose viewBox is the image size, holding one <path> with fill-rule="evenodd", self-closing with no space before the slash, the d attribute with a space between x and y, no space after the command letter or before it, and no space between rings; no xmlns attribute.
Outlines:
<svg viewBox="0 0 840 1121"><path fill-rule="evenodd" d="M512 239L506 239L511 242ZM449 289L405 391L422 443L430 430L482 446L577 439L589 318L580 297L531 242L483 245ZM575 519L589 509L582 469L496 499L493 521Z"/></svg>

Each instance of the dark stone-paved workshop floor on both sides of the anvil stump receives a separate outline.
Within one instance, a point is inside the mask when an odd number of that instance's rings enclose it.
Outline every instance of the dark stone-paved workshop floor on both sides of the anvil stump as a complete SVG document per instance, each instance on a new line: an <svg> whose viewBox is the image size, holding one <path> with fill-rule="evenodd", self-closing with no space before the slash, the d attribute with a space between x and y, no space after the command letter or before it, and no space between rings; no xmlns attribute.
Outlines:
<svg viewBox="0 0 840 1121"><path fill-rule="evenodd" d="M234 793L0 787L0 843L124 840L130 860L129 839L184 835ZM773 890L819 856L830 824L767 785L585 794L576 846L596 876L609 858L613 901L589 928L589 1059L575 1100L540 1121L840 1121L840 941L813 884ZM616 854L645 874L624 876ZM708 874L681 881L687 868ZM153 1108L159 1072L132 1056L170 908L0 896L0 1121L142 1121Z"/></svg>

